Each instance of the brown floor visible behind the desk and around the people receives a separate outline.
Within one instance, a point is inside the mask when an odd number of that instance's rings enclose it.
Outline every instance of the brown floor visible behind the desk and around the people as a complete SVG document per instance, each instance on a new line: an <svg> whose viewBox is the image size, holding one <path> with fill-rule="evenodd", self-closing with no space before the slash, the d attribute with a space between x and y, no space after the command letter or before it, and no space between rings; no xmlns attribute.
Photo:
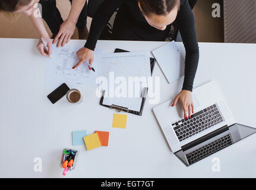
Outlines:
<svg viewBox="0 0 256 190"><path fill-rule="evenodd" d="M70 3L68 0L56 0L57 7L64 20L68 17ZM195 24L197 28L198 42L224 42L223 14L221 18L211 17L211 5L213 3L223 4L223 0L198 0L193 12L195 15ZM222 10L223 11L223 10ZM91 19L89 18L89 26ZM36 29L28 17L20 14L18 18L8 19L0 13L0 37L14 38L38 38ZM48 33L51 36L48 26L45 24ZM77 30L72 39L78 39Z"/></svg>

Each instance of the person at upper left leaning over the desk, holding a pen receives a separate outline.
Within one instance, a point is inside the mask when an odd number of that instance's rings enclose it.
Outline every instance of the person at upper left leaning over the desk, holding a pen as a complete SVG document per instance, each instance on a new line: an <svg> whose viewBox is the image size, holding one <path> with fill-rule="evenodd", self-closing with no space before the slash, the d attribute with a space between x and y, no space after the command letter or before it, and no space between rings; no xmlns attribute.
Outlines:
<svg viewBox="0 0 256 190"><path fill-rule="evenodd" d="M64 46L68 43L74 34L75 26L78 28L80 39L87 37L87 4L86 0L69 0L71 1L71 10L67 20L63 21L58 8L56 8L56 0L0 0L0 11L6 12L24 12L29 15L30 20L36 27L40 40L37 49L44 56L50 56L52 53L52 41L43 25L42 18L48 24L53 34L53 44L57 43L57 47ZM39 6L42 7L42 15ZM49 51L44 48L41 37L45 40Z"/></svg>

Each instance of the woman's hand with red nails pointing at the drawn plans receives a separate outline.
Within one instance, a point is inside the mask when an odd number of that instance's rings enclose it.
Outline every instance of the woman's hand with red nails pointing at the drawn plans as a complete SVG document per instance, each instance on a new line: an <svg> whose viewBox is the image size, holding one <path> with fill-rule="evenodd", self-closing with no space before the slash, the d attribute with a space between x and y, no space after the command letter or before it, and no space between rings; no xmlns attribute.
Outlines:
<svg viewBox="0 0 256 190"><path fill-rule="evenodd" d="M83 64L83 62L86 62L86 61L90 61L89 64L92 65L94 60L94 52L93 50L90 50L86 47L82 47L80 50L78 50L77 57L78 57L78 62L72 69L77 68L79 65Z"/></svg>

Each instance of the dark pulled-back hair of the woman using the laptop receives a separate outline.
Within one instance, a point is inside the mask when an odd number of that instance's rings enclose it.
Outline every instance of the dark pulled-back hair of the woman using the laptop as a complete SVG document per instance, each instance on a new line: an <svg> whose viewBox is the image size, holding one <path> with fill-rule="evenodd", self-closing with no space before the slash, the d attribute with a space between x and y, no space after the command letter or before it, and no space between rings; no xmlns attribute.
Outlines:
<svg viewBox="0 0 256 190"><path fill-rule="evenodd" d="M180 5L180 0L138 0L144 14L166 15Z"/></svg>

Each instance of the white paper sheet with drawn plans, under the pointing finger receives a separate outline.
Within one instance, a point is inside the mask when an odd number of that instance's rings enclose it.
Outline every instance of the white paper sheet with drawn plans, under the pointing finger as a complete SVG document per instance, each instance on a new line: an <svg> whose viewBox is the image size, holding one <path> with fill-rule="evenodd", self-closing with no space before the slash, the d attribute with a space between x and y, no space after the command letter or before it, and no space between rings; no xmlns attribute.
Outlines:
<svg viewBox="0 0 256 190"><path fill-rule="evenodd" d="M76 52L80 46L65 45L65 47L52 48L51 58L46 58L46 90L53 91L62 83L66 83L69 88L81 88L85 86L95 86L97 78L97 58L103 52L95 50L93 68L96 72L89 70L86 63L78 68L72 69L77 64Z"/></svg>

